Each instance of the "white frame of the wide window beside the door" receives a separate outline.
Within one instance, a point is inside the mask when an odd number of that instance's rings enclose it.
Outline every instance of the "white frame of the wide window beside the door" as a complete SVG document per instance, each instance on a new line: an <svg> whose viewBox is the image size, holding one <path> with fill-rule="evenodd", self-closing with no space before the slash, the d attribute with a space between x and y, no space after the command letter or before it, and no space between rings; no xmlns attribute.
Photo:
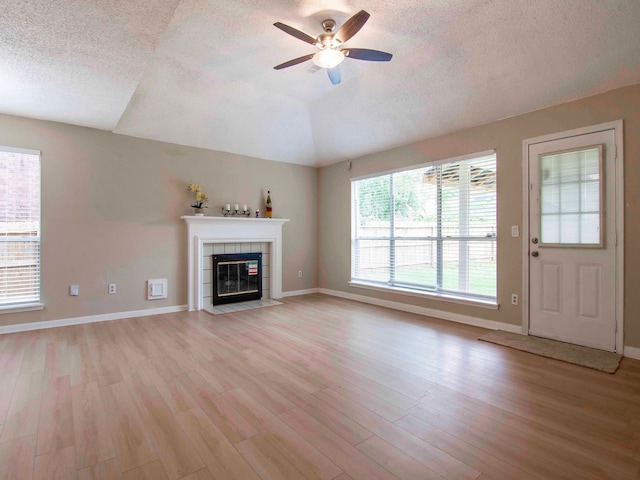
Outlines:
<svg viewBox="0 0 640 480"><path fill-rule="evenodd" d="M359 287L359 288L365 288L365 289L372 289L372 290L381 290L381 291L393 291L393 292L398 292L398 293L403 293L406 295L410 295L410 296L417 296L417 297L436 297L440 300L446 300L446 301L450 301L450 302L454 302L454 303L460 303L460 304L468 304L468 305L474 305L474 306L480 306L480 307L485 307L485 308L489 308L489 309L497 309L498 308L498 303L497 303L497 290L496 290L496 295L495 296L482 296L482 295L474 295L474 294L469 294L466 295L464 293L461 292L454 292L454 291L447 291L441 288L436 288L436 289L425 289L422 287L416 287L414 288L413 286L410 285L394 285L393 284L393 280L390 279L390 282L376 282L376 281L372 281L372 280L366 280L366 279L360 279L355 277L355 271L356 271L356 265L355 265L355 255L354 255L354 249L356 248L356 243L358 242L358 238L356 238L357 236L357 213L356 213L356 203L355 203L355 198L354 198L354 182L360 181L360 180L365 180L368 178L376 178L376 177L383 177L383 176L387 176L387 175L392 175L395 173L399 173L399 172L405 172L405 171L410 171L410 170L418 170L421 168L425 168L425 167L432 167L432 166L439 166L439 165L443 165L443 164L449 164L449 163L458 163L458 162L463 162L465 160L472 160L472 159L476 159L476 158L480 158L480 157L486 157L486 156L490 156L490 155L496 155L495 150L488 150L488 151L484 151L484 152L476 152L476 153L472 153L472 154L468 154L468 155L462 155L462 156L458 156L458 157L453 157L453 158L447 158L447 159L442 159L442 160L438 160L438 161L434 161L434 162L429 162L429 163L425 163L425 164L421 164L421 165L412 165L411 167L407 167L407 168L401 168L401 169L395 169L395 170L389 170L386 172L381 172L381 173L376 173L376 174L372 174L372 175L366 175L366 176L360 176L360 177L354 177L351 179L351 281L349 282L349 285L351 286L355 286L355 287ZM496 167L497 167L497 159L496 159ZM462 169L461 169L462 170ZM462 171L461 171L461 176L463 175ZM464 191L468 190L468 185L466 183L464 184L460 184L461 188L461 194L464 195ZM393 202L393 200L391 200ZM464 208L463 208L464 210ZM392 209L393 212L393 209ZM461 212L461 215L464 216L464 212ZM439 223L440 221L438 221ZM468 225L467 225L468 228ZM496 228L497 228L497 194L496 194ZM394 215L391 215L390 218L390 231L393 232L394 231ZM468 232L466 232L468 234ZM495 249L496 249L496 256L497 256L497 232L495 232L496 235L494 235L491 238L491 241L495 242ZM460 240L463 240L466 237L465 235L465 231L462 230L460 232ZM469 237L468 240L479 240L481 237ZM482 238L486 238L486 237L482 237ZM389 237L385 237L385 238L380 238L380 239L387 239L390 241L390 248L393 250L394 248L394 240L396 238L394 238L393 234L390 234ZM399 238L398 238L399 239ZM402 238L402 240L407 240L406 238ZM438 242L442 242L443 238L441 236L438 236L437 238L433 238L432 240L436 240ZM391 259L390 259L390 263L393 261L392 259L394 258L394 255L390 255ZM393 270L393 269L392 269ZM497 264L496 264L496 283L497 283ZM392 275L390 274L390 277Z"/></svg>

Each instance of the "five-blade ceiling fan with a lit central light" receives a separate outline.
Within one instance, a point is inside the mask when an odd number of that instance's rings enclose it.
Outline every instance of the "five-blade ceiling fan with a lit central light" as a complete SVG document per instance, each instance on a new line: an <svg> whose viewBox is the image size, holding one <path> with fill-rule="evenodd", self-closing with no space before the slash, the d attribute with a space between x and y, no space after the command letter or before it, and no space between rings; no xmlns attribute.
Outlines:
<svg viewBox="0 0 640 480"><path fill-rule="evenodd" d="M337 85L340 83L340 63L345 58L354 58L356 60L368 60L370 62L388 62L391 60L390 53L381 52L379 50L370 50L368 48L344 48L344 43L360 31L364 24L369 20L370 15L364 10L360 10L349 20L344 22L340 29L333 33L336 28L336 22L327 19L322 22L324 33L313 38L300 30L297 30L284 23L276 22L273 25L283 32L296 37L303 42L307 42L315 46L318 51L310 53L303 57L294 58L288 62L281 63L273 67L276 70L292 67L299 63L313 60L317 66L326 68L331 83Z"/></svg>

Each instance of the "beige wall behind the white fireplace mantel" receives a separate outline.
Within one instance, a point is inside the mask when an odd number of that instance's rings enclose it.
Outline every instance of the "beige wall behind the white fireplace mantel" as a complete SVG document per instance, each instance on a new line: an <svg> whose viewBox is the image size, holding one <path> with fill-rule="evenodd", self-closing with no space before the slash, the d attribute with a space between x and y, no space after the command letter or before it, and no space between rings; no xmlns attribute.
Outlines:
<svg viewBox="0 0 640 480"><path fill-rule="evenodd" d="M42 152L43 311L0 315L0 325L187 303L186 226L193 195L258 205L272 192L283 227L283 291L317 287L317 170L109 132L0 115L0 145ZM298 278L303 270L303 278ZM146 280L169 297L146 300ZM117 294L107 294L107 284ZM80 296L69 296L69 285Z"/></svg>

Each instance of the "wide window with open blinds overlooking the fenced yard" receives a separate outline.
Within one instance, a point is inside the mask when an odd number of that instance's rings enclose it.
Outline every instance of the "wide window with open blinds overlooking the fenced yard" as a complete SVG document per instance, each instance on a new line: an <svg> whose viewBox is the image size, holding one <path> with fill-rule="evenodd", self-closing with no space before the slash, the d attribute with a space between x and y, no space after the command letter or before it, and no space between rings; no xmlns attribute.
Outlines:
<svg viewBox="0 0 640 480"><path fill-rule="evenodd" d="M351 182L351 280L495 303L496 156Z"/></svg>

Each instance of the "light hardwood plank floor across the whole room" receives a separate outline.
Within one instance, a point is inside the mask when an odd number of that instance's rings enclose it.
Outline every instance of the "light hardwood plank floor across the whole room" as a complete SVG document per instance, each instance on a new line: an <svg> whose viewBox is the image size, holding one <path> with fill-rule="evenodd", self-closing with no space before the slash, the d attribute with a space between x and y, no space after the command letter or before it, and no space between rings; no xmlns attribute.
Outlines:
<svg viewBox="0 0 640 480"><path fill-rule="evenodd" d="M637 479L640 362L309 295L0 337L1 479Z"/></svg>

